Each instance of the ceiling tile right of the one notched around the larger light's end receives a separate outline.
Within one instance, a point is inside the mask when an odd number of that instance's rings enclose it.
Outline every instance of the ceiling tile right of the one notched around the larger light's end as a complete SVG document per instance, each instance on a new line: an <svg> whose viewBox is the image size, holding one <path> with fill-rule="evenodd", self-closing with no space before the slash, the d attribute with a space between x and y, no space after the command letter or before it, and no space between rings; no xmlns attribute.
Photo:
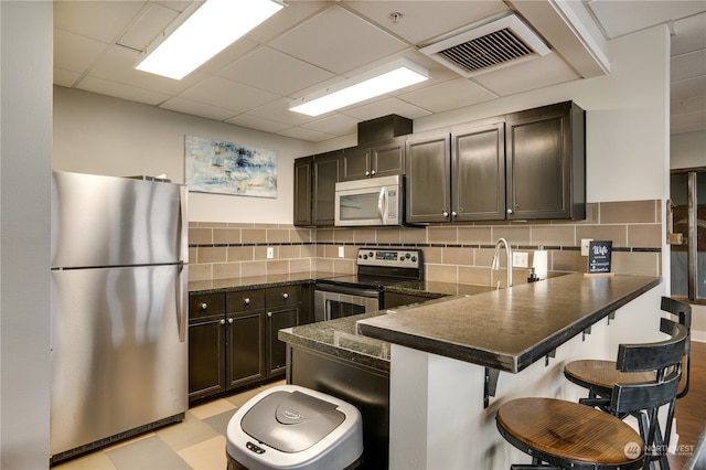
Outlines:
<svg viewBox="0 0 706 470"><path fill-rule="evenodd" d="M202 79L183 92L181 97L240 113L278 98L272 93L214 76Z"/></svg>

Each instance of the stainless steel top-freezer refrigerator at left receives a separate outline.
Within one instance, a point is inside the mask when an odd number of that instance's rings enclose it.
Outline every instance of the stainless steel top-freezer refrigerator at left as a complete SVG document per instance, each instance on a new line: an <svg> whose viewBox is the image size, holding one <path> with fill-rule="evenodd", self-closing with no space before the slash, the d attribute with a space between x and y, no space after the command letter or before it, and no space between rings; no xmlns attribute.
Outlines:
<svg viewBox="0 0 706 470"><path fill-rule="evenodd" d="M149 179L52 174L52 462L183 419L186 195Z"/></svg>

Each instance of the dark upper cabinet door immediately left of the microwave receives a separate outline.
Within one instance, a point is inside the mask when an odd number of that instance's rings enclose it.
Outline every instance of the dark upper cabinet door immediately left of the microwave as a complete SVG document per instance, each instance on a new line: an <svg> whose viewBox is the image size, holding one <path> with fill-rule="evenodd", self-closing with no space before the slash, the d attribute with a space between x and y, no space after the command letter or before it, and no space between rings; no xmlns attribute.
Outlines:
<svg viewBox="0 0 706 470"><path fill-rule="evenodd" d="M313 159L313 225L333 225L340 165L341 151L322 153Z"/></svg>

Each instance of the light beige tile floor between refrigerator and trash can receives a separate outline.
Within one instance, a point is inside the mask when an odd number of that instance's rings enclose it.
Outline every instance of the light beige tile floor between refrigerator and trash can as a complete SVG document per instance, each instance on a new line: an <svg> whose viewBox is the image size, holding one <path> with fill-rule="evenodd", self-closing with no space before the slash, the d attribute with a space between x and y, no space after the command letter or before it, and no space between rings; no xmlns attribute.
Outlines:
<svg viewBox="0 0 706 470"><path fill-rule="evenodd" d="M182 423L52 467L55 470L225 470L226 427L235 410L274 382L190 408Z"/></svg>

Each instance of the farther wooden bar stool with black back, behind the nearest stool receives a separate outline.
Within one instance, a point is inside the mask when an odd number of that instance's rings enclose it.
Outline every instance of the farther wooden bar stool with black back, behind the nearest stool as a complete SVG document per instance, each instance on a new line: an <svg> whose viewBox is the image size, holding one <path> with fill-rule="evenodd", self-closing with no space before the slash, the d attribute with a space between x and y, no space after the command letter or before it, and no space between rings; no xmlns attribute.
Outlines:
<svg viewBox="0 0 706 470"><path fill-rule="evenodd" d="M692 306L688 303L674 300L670 297L662 297L661 308L665 312L670 312L678 317L678 322L686 328L687 335L691 334L692 328ZM684 352L684 386L677 393L676 398L685 396L689 386L689 371L691 371L691 344L687 337L686 346ZM598 361L598 360L581 360L573 361L566 364L564 367L564 376L570 382L580 385L588 389L588 398L579 399L579 403L589 406L596 406L603 412L610 412L610 395L613 391L613 385L617 383L640 383L654 381L654 371L637 371L637 372L622 372L619 370L616 361ZM657 429L657 435L661 439L656 442L659 446L668 446L670 435L672 432L672 418L674 416L674 406L676 399L670 403L666 417L666 427L664 432ZM644 420L640 418L640 412L632 414L638 418L640 425L640 431L643 438L645 438L646 429L643 429ZM627 415L618 415L621 419ZM661 440L661 441L660 441Z"/></svg>

